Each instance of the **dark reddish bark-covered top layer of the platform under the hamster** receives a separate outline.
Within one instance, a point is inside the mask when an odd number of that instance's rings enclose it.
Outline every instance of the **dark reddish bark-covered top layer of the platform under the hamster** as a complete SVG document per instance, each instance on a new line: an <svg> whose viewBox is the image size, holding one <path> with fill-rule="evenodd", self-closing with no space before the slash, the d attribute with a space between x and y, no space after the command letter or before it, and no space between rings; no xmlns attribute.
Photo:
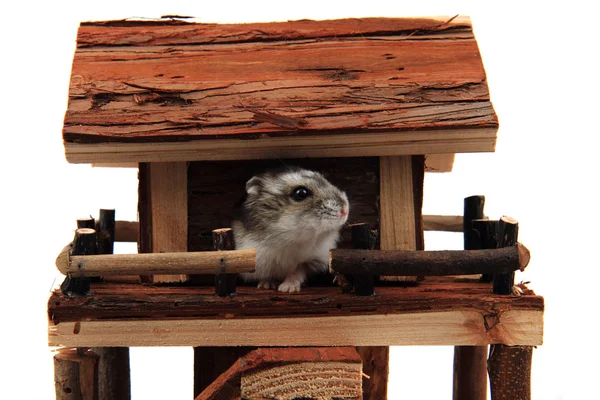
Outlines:
<svg viewBox="0 0 600 400"><path fill-rule="evenodd" d="M300 293L277 293L238 285L237 296L219 297L214 286L150 286L92 282L87 296L54 292L48 301L55 324L84 320L244 319L390 315L480 310L493 324L506 310L543 311L543 299L491 294L491 284L427 278L409 287L380 286L376 296L353 296L335 286L307 286ZM527 289L528 290L528 289ZM492 306L493 305L493 306Z"/></svg>

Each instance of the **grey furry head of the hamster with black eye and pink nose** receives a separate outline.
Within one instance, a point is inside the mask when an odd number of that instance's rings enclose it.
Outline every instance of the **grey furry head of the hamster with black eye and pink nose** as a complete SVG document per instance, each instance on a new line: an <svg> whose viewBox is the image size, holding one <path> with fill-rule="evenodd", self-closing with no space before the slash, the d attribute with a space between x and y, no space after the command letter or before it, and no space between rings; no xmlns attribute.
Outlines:
<svg viewBox="0 0 600 400"><path fill-rule="evenodd" d="M246 183L246 194L240 219L248 232L319 234L339 231L348 219L346 193L315 171L287 168L256 175Z"/></svg>

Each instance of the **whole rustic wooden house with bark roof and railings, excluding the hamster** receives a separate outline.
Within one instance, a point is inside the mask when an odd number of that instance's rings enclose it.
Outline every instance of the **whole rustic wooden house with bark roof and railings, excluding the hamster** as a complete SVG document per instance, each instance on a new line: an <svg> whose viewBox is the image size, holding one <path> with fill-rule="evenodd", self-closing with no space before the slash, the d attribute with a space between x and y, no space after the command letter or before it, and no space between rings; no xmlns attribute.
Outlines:
<svg viewBox="0 0 600 400"><path fill-rule="evenodd" d="M517 222L483 196L422 215L425 172L494 151L497 129L468 18L82 23L66 158L139 168L139 221L101 210L57 258L57 399L129 399L131 346L194 347L196 399L386 399L405 345L455 346L454 399L485 399L488 373L493 399L529 399L544 304L514 284ZM256 251L229 229L248 179L281 165L350 202L330 273L299 293L239 281ZM465 250L423 251L424 230Z"/></svg>

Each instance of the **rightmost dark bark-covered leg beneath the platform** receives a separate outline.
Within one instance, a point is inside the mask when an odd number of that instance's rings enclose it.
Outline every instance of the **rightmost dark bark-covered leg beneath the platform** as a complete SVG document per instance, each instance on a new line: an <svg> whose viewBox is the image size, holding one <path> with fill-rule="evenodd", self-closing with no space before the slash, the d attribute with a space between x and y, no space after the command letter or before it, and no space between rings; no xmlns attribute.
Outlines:
<svg viewBox="0 0 600 400"><path fill-rule="evenodd" d="M490 347L488 373L492 400L531 399L531 346Z"/></svg>

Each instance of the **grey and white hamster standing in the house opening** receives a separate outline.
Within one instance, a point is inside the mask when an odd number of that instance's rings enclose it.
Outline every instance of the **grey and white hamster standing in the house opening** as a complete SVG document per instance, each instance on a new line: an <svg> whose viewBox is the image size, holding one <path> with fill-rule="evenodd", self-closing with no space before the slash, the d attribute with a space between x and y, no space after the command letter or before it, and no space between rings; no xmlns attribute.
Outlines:
<svg viewBox="0 0 600 400"><path fill-rule="evenodd" d="M327 271L348 213L346 193L318 172L286 168L252 177L232 223L236 249L256 248L256 271L243 278L299 292L309 274Z"/></svg>

